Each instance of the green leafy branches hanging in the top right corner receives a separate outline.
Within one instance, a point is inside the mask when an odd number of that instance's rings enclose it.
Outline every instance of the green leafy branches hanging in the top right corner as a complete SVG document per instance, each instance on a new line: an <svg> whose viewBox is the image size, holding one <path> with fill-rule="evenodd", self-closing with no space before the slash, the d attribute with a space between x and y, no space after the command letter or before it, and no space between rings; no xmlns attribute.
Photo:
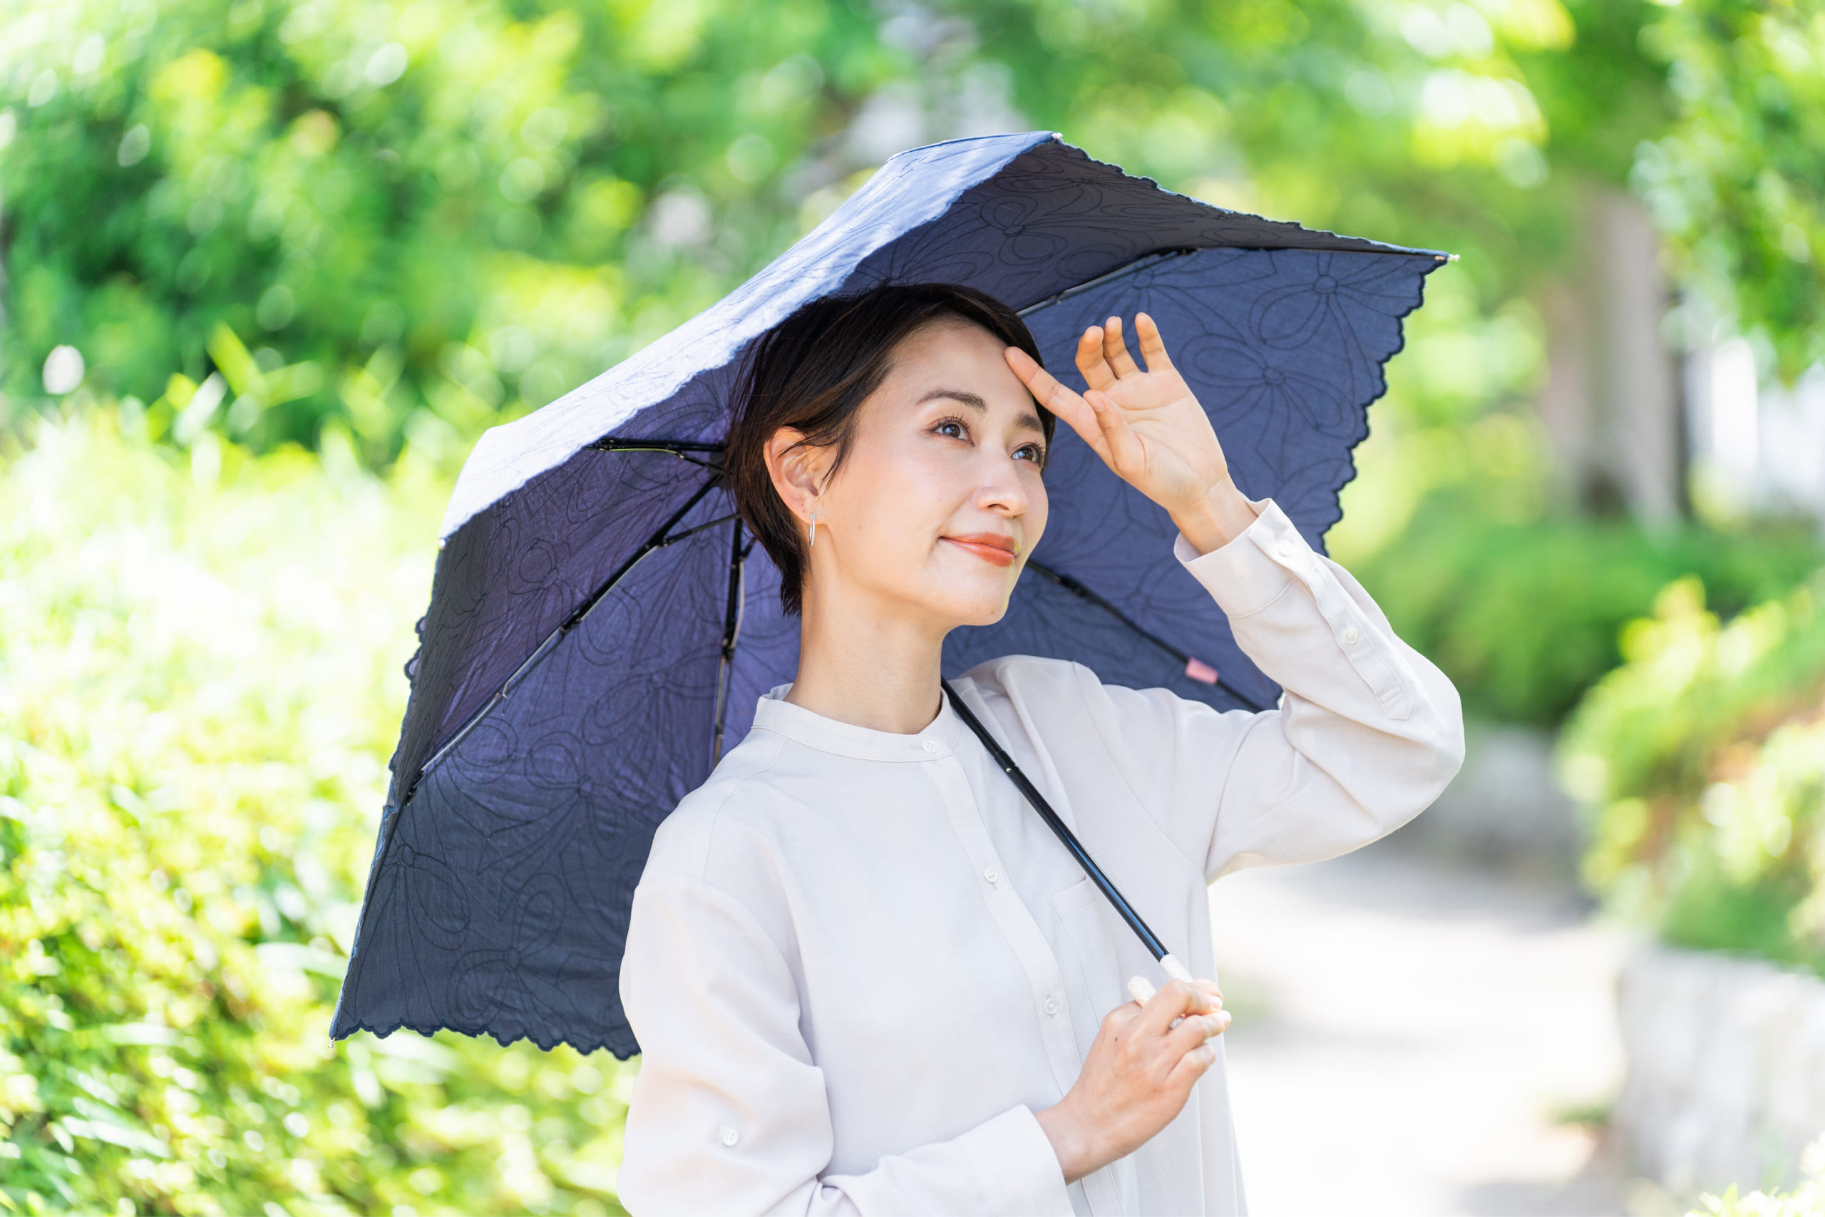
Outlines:
<svg viewBox="0 0 1825 1217"><path fill-rule="evenodd" d="M1825 4L1684 0L1644 44L1679 117L1642 148L1637 186L1683 276L1792 380L1825 359Z"/></svg>

